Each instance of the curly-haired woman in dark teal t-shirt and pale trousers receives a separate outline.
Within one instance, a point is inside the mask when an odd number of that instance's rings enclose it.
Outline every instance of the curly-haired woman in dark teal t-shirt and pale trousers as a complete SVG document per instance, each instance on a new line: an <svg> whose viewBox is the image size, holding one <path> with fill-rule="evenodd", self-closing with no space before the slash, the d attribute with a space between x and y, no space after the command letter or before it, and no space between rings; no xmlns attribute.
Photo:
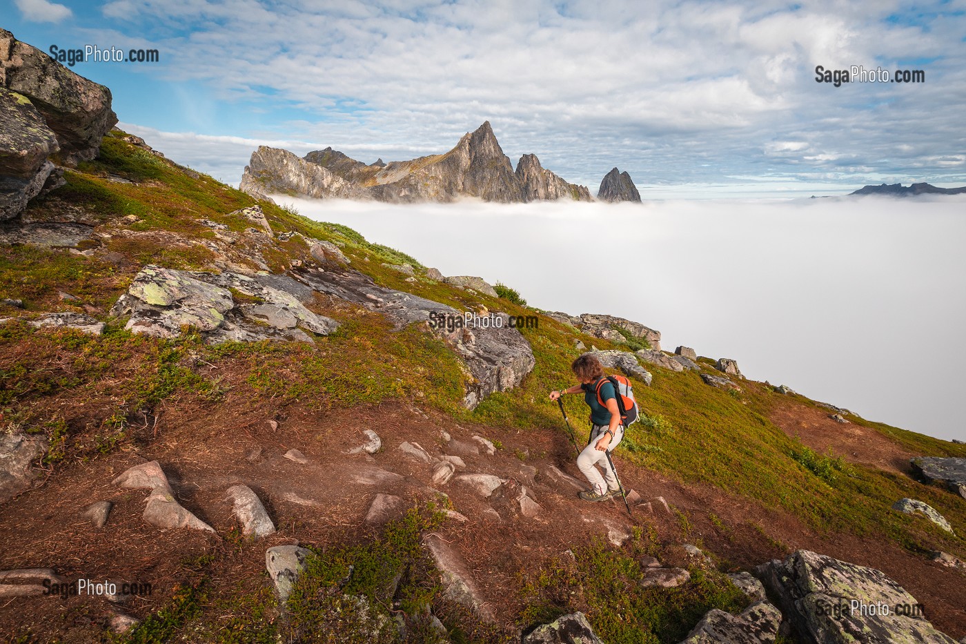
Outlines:
<svg viewBox="0 0 966 644"><path fill-rule="evenodd" d="M590 441L577 457L577 466L590 482L592 489L583 491L579 496L584 501L603 501L620 495L617 477L614 476L608 451L613 450L624 437L620 410L613 385L607 380L604 366L597 357L585 353L570 366L581 384L574 385L562 392L551 392L550 399L556 400L564 394L583 394L583 401L590 406ZM603 401L603 404L601 404ZM597 465L604 469L601 477Z"/></svg>

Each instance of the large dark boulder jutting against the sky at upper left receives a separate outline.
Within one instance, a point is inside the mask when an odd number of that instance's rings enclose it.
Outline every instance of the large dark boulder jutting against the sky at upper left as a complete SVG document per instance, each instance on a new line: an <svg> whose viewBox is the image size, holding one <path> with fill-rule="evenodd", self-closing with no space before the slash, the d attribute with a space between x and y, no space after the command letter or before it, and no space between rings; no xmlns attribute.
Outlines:
<svg viewBox="0 0 966 644"><path fill-rule="evenodd" d="M65 161L94 159L118 122L111 92L0 29L0 85L30 99L57 135Z"/></svg>

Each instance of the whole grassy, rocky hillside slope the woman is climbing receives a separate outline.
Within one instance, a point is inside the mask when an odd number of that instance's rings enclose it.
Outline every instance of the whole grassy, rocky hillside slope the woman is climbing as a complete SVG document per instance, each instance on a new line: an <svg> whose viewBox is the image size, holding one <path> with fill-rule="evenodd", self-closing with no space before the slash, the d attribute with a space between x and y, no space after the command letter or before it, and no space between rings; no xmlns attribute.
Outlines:
<svg viewBox="0 0 966 644"><path fill-rule="evenodd" d="M3 641L966 637L966 446L444 277L125 132L59 167L0 226ZM588 350L642 407L630 512L578 499L547 399Z"/></svg>

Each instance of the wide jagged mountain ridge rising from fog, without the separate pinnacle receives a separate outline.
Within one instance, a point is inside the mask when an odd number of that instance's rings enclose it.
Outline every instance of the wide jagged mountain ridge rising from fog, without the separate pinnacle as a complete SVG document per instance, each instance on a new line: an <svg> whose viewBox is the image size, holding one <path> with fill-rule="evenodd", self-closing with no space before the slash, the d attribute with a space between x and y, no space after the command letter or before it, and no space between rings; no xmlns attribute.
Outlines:
<svg viewBox="0 0 966 644"><path fill-rule="evenodd" d="M261 146L245 166L240 188L259 198L278 192L392 203L460 197L502 203L592 200L586 187L568 184L542 167L535 155L524 155L514 170L489 121L465 134L449 152L412 161L366 165L331 148L299 159L287 150Z"/></svg>

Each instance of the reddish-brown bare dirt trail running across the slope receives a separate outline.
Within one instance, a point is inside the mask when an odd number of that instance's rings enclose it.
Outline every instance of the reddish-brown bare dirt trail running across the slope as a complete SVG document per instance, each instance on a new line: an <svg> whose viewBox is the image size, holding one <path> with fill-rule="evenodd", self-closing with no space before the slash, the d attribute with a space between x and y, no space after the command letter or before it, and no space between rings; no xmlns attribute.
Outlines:
<svg viewBox="0 0 966 644"><path fill-rule="evenodd" d="M264 542L240 546L229 558L231 566L218 571L223 584L260 583L265 547L270 545L298 540L326 546L371 536L374 528L365 526L363 517L379 492L419 503L438 499L442 492L468 520L448 520L438 533L462 554L488 607L505 624L512 624L522 607L517 594L507 592L519 586L521 571L535 571L547 557L559 556L592 537L630 535L633 526L639 525L653 526L668 544L700 540L729 569L748 570L796 548L880 569L926 605L936 628L954 637L966 635L963 574L927 563L897 545L818 535L784 512L764 509L708 485L668 480L619 456L616 463L625 486L645 499L663 497L671 512L654 501L652 512L638 508L629 517L620 501L579 501L570 483L552 476L553 465L581 479L559 428L524 431L457 424L408 405L384 404L351 413L286 410L288 416L277 416L278 428L272 429L268 419L277 410L234 402L220 405L217 416L173 407L162 416L156 441L150 445L66 467L40 488L5 504L0 508L0 570L49 567L71 578L150 580L158 592L133 600L125 610L138 617L156 610L170 598L182 562L218 542L199 532L162 532L146 524L140 514L147 490L122 489L111 483L131 465L156 459L179 501L221 535L236 525L224 501L228 486L245 483L265 501L279 532ZM789 414L788 418L796 417ZM815 424L821 420L804 413L797 418ZM844 436L841 425L833 424ZM380 434L383 450L372 456L343 454L364 442L361 431L365 428ZM455 480L434 488L429 466L403 454L398 446L409 441L434 456L451 453L441 431L465 443L471 443L474 434L498 441L502 449L494 455L464 454L466 468L458 468L457 475L493 474L507 483L491 498ZM803 440L818 439L803 435ZM822 446L815 442L814 447ZM258 448L261 454L249 459ZM308 462L285 458L283 454L292 448L305 454ZM859 454L888 462L905 457ZM535 475L530 468L536 468ZM367 476L377 471L399 478L374 481L377 477ZM541 506L536 517L520 514L517 496L524 486ZM99 500L115 504L102 529L78 516L82 508ZM498 518L486 512L490 509ZM689 534L675 510L688 516ZM720 518L719 525L709 512ZM71 641L93 641L98 629L92 620L97 622L108 608L105 600L87 598L9 600L0 604L0 632L12 633L20 625L32 624L40 633L65 636L65 624L70 624L75 629Z"/></svg>

